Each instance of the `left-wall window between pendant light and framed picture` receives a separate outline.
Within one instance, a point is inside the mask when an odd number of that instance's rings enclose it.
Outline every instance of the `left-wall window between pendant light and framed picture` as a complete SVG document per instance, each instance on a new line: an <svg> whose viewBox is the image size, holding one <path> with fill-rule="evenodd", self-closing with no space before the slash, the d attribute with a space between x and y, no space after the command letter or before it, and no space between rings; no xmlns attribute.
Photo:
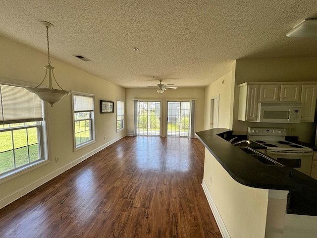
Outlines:
<svg viewBox="0 0 317 238"><path fill-rule="evenodd" d="M96 142L94 95L73 92L74 149Z"/></svg>

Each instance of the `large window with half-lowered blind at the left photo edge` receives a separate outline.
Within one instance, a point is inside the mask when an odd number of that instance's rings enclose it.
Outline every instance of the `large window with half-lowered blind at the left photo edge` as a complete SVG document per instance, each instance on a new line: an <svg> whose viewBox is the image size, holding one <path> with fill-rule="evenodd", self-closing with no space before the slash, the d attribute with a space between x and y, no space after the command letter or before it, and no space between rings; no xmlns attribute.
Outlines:
<svg viewBox="0 0 317 238"><path fill-rule="evenodd" d="M0 178L47 161L42 106L25 88L0 84Z"/></svg>

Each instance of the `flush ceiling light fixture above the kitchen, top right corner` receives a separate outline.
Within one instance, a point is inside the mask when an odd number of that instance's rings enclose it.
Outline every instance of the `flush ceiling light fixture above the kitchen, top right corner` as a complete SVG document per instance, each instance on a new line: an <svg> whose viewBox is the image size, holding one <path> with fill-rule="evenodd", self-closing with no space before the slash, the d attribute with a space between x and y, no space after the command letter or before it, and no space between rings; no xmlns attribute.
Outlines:
<svg viewBox="0 0 317 238"><path fill-rule="evenodd" d="M306 19L294 26L287 37L317 37L317 18Z"/></svg>

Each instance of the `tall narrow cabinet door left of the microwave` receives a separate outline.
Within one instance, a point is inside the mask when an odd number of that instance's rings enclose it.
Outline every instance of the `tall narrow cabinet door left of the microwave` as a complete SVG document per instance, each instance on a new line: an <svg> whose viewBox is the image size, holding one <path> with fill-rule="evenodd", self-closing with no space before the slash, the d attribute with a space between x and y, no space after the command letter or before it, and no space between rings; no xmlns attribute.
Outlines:
<svg viewBox="0 0 317 238"><path fill-rule="evenodd" d="M257 120L259 103L258 90L258 85L248 85L246 120Z"/></svg>

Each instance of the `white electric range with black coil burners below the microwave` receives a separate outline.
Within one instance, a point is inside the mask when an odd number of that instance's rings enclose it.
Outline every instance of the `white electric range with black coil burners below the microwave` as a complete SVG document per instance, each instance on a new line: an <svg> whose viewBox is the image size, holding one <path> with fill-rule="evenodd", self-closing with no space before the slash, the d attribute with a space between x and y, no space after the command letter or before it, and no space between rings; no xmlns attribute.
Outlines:
<svg viewBox="0 0 317 238"><path fill-rule="evenodd" d="M266 155L311 176L313 149L286 141L285 128L248 127L248 139L266 147Z"/></svg>

